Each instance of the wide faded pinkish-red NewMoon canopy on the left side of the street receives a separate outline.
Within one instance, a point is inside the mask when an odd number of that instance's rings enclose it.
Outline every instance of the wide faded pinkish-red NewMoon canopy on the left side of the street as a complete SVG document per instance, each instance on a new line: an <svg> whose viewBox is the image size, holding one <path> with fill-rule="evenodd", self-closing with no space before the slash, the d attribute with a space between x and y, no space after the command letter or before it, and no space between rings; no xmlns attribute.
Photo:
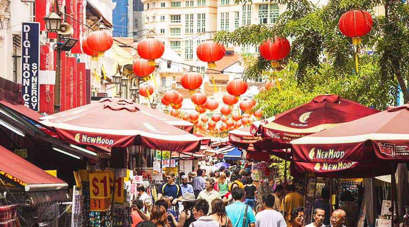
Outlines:
<svg viewBox="0 0 409 227"><path fill-rule="evenodd" d="M200 138L160 121L132 100L103 98L85 106L40 118L61 139L82 145L142 145L164 151L194 152Z"/></svg>

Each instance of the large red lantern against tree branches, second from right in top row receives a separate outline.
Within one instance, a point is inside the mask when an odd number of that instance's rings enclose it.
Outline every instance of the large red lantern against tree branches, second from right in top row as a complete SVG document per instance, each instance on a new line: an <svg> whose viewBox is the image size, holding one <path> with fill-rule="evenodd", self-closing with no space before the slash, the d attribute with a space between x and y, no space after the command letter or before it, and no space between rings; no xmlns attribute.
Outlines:
<svg viewBox="0 0 409 227"><path fill-rule="evenodd" d="M274 42L270 39L265 40L259 47L260 55L266 60L271 61L271 67L279 68L281 59L287 57L290 53L290 42L286 38L275 38Z"/></svg>

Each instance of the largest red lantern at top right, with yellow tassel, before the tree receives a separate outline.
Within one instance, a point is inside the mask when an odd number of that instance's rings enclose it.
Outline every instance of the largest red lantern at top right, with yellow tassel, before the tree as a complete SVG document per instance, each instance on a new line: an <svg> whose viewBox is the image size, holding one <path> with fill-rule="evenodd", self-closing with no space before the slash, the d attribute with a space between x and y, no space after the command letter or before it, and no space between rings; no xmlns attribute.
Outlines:
<svg viewBox="0 0 409 227"><path fill-rule="evenodd" d="M345 36L352 38L353 45L361 44L361 37L372 28L372 16L365 10L355 9L348 11L339 18L339 30Z"/></svg>

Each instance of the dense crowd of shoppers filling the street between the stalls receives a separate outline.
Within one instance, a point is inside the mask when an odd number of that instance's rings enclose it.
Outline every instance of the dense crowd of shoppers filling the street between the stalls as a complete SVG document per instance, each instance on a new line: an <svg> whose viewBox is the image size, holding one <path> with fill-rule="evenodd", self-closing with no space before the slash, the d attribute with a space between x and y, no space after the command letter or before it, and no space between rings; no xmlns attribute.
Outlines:
<svg viewBox="0 0 409 227"><path fill-rule="evenodd" d="M249 172L231 174L222 167L205 177L206 171L198 169L181 173L181 184L175 183L174 173L165 176L167 182L161 185L155 203L142 185L137 187L132 227L304 227L304 197L293 185L287 185L285 198L284 187L276 185L274 193L257 201ZM329 214L327 197L324 189L315 200L314 221L305 227L345 227L348 223L342 209Z"/></svg>

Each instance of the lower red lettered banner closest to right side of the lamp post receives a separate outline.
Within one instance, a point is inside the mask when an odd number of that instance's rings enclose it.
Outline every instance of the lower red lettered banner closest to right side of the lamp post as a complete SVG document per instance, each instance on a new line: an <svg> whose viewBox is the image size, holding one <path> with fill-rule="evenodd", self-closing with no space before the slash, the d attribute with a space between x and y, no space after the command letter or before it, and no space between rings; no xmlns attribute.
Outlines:
<svg viewBox="0 0 409 227"><path fill-rule="evenodd" d="M76 58L68 57L65 66L65 103L64 109L73 109L76 105ZM62 103L62 102L61 102ZM62 105L62 104L61 104Z"/></svg>

